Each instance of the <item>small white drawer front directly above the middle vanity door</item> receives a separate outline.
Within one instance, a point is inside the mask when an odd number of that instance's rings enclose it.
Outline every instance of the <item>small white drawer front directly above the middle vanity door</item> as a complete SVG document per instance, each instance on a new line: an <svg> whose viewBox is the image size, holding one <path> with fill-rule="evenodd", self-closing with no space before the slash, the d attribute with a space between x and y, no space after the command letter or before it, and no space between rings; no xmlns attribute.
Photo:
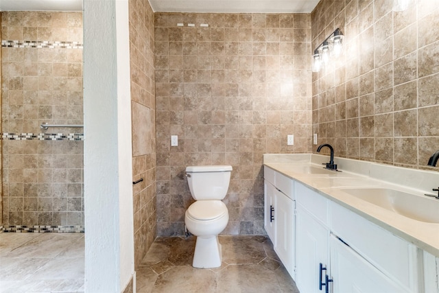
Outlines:
<svg viewBox="0 0 439 293"><path fill-rule="evenodd" d="M329 201L318 194L316 191L297 183L294 186L296 189L296 202L311 213L317 220L320 220L324 226L329 226Z"/></svg>

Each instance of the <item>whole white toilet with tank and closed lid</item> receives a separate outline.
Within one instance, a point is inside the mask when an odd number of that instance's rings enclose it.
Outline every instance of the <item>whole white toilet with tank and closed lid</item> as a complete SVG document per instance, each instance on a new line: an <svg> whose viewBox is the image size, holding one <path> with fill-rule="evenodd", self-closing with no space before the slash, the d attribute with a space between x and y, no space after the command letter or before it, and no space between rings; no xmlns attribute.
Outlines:
<svg viewBox="0 0 439 293"><path fill-rule="evenodd" d="M195 200L185 214L187 230L197 236L192 266L221 266L221 244L218 234L227 226L228 209L221 200L226 197L232 166L189 166L186 176Z"/></svg>

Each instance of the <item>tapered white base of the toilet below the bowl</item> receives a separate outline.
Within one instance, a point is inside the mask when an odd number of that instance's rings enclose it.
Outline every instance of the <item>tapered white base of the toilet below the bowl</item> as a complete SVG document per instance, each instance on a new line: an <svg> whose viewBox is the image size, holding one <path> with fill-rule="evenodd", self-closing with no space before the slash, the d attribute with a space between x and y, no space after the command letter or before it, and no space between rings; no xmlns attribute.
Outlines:
<svg viewBox="0 0 439 293"><path fill-rule="evenodd" d="M197 237L193 252L192 266L194 268L218 268L221 266L222 254L218 236Z"/></svg>

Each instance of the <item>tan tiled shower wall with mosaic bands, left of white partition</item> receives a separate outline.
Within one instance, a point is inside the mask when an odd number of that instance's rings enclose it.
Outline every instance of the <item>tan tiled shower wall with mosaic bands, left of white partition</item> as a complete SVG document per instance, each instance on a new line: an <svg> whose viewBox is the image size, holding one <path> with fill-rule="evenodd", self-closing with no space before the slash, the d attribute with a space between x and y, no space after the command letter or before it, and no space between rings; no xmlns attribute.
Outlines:
<svg viewBox="0 0 439 293"><path fill-rule="evenodd" d="M84 224L82 13L1 17L3 226Z"/></svg>

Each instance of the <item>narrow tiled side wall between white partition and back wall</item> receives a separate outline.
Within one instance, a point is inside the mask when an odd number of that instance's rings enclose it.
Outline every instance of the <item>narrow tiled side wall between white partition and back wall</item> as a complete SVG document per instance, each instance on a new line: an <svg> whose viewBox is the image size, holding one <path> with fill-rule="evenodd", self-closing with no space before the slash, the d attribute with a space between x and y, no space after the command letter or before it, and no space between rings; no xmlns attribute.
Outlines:
<svg viewBox="0 0 439 293"><path fill-rule="evenodd" d="M130 0L132 180L134 264L156 239L156 115L154 97L154 12L148 1Z"/></svg>

